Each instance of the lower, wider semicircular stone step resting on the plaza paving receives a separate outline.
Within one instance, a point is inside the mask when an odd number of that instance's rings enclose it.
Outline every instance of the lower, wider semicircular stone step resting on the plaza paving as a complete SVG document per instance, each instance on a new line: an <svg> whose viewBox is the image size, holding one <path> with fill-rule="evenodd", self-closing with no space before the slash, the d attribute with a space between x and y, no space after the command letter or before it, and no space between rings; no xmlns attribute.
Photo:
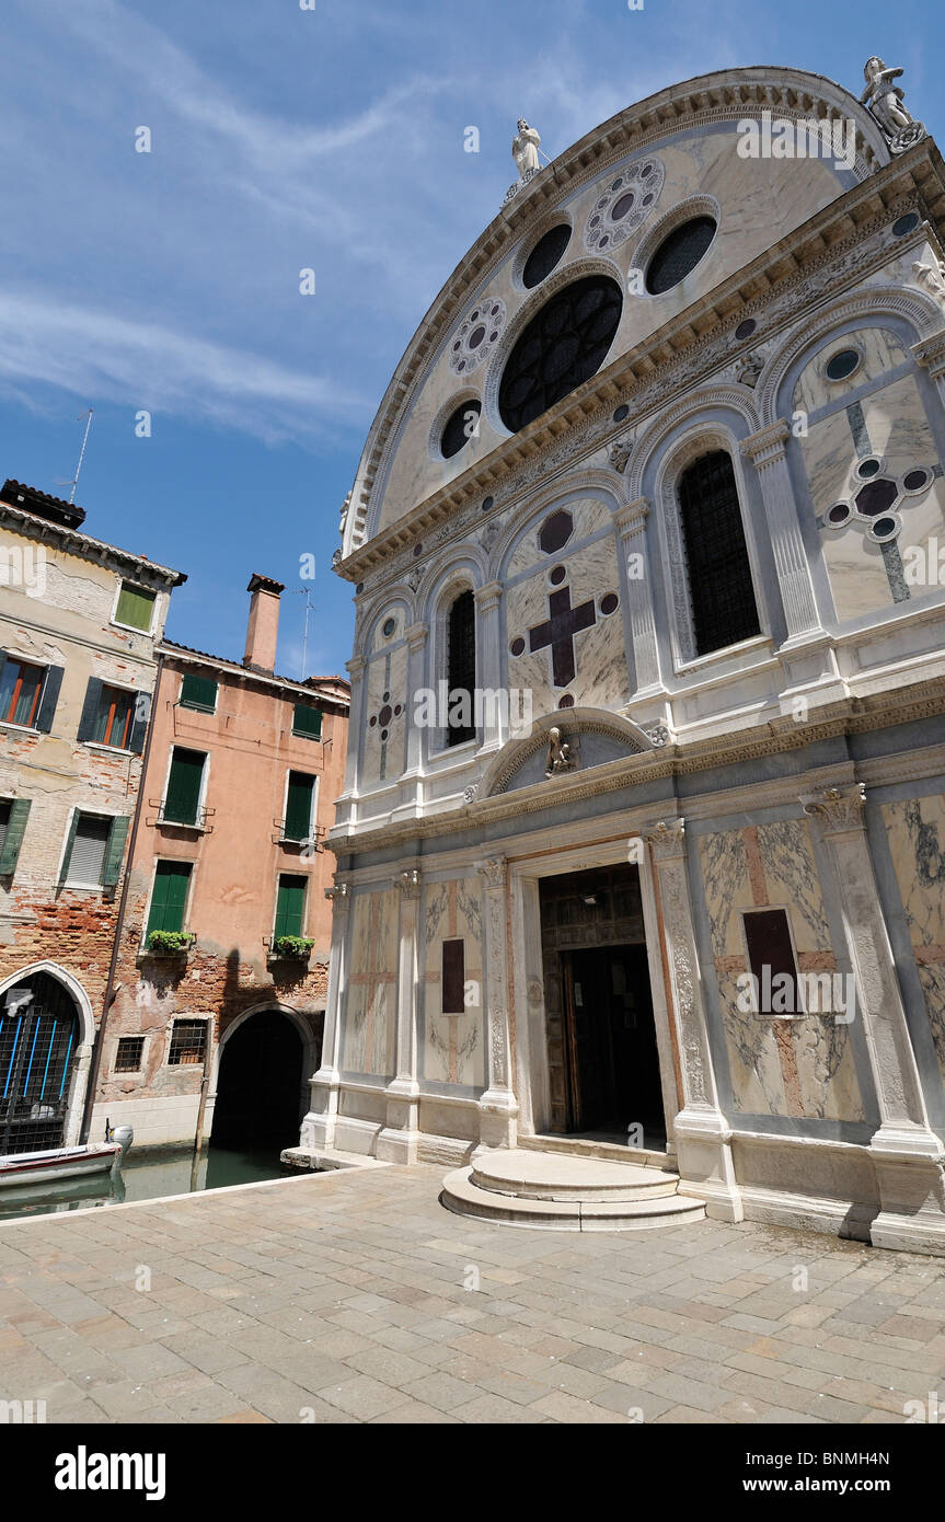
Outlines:
<svg viewBox="0 0 945 1522"><path fill-rule="evenodd" d="M530 1199L505 1195L479 1189L472 1181L472 1167L458 1167L447 1173L440 1199L457 1216L549 1231L653 1231L703 1221L706 1213L702 1199L676 1193L606 1201Z"/></svg>

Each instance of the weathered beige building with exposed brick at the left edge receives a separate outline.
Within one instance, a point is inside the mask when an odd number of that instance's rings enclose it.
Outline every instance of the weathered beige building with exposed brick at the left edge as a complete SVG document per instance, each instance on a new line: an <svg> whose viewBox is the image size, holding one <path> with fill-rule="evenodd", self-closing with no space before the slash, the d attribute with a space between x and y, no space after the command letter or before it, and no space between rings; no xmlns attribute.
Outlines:
<svg viewBox="0 0 945 1522"><path fill-rule="evenodd" d="M0 492L0 1152L79 1140L142 778L186 580Z"/></svg>

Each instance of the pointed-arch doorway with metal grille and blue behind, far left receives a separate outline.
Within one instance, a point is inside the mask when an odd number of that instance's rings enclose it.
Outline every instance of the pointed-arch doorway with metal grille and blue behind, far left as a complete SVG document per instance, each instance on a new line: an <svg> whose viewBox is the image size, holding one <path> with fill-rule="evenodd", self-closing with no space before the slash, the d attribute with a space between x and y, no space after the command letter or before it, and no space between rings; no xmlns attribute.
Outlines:
<svg viewBox="0 0 945 1522"><path fill-rule="evenodd" d="M49 973L0 994L0 1154L64 1146L81 1046L76 1001Z"/></svg>

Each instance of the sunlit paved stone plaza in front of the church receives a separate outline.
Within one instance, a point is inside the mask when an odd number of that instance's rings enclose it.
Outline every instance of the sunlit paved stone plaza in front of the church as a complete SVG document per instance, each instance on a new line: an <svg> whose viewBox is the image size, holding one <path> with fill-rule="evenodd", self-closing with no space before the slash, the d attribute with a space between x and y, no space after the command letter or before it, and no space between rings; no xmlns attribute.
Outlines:
<svg viewBox="0 0 945 1522"><path fill-rule="evenodd" d="M441 1173L0 1224L0 1396L61 1423L901 1423L945 1391L942 1260L476 1224Z"/></svg>

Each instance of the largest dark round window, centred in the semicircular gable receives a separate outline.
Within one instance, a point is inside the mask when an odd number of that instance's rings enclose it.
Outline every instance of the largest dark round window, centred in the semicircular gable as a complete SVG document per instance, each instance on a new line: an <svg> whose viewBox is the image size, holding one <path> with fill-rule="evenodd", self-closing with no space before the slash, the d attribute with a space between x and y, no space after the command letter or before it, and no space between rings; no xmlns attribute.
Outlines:
<svg viewBox="0 0 945 1522"><path fill-rule="evenodd" d="M609 275L575 280L545 303L519 336L502 373L499 416L505 428L517 434L597 374L622 306L621 288Z"/></svg>

